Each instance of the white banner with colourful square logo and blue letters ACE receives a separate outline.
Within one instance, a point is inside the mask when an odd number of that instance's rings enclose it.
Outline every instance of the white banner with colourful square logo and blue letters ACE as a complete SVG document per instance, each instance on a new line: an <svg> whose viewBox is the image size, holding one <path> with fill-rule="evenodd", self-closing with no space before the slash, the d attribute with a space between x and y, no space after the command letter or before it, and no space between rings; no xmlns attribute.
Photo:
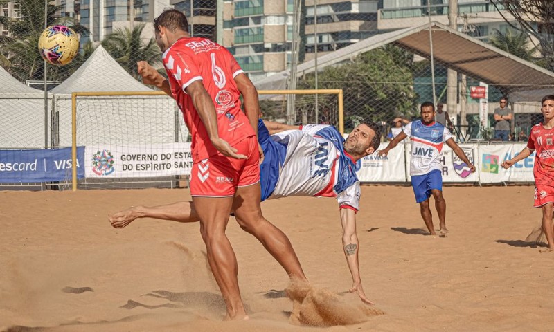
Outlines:
<svg viewBox="0 0 554 332"><path fill-rule="evenodd" d="M500 167L504 160L517 156L525 146L521 143L480 145L481 169L479 171L481 172L481 183L535 181L535 178L533 178L535 151L507 170Z"/></svg>

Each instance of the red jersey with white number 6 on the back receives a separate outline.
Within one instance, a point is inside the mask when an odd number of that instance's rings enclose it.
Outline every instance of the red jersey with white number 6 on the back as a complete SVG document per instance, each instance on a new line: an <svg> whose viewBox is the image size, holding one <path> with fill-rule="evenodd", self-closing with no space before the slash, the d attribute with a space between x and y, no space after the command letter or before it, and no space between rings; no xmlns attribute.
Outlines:
<svg viewBox="0 0 554 332"><path fill-rule="evenodd" d="M163 53L171 92L183 113L193 138L193 160L203 160L218 153L211 145L187 86L202 80L217 113L217 131L231 146L256 135L247 116L240 109L240 92L233 78L243 73L239 64L223 46L206 38L181 38Z"/></svg>

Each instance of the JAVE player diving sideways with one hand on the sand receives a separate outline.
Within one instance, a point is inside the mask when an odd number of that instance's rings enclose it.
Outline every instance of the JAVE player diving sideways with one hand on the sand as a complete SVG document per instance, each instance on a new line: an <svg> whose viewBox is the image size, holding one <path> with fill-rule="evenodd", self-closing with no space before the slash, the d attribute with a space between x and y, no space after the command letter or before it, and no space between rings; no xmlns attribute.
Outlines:
<svg viewBox="0 0 554 332"><path fill-rule="evenodd" d="M360 187L355 169L357 160L379 147L379 129L373 122L359 124L346 140L332 126L303 127L278 122L258 122L258 142L264 152L260 165L262 201L284 196L335 197L339 203L342 243L352 274L350 292L372 304L361 286L356 212ZM270 135L272 133L272 135ZM114 228L123 228L136 218L195 222L192 202L181 201L155 207L136 206L109 216Z"/></svg>

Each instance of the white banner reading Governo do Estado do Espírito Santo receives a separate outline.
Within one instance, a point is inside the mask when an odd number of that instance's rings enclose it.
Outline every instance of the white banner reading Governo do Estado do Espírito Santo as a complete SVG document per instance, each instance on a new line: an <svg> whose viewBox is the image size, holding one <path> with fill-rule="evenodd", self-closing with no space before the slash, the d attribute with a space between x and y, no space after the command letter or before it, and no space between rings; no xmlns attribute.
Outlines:
<svg viewBox="0 0 554 332"><path fill-rule="evenodd" d="M190 143L161 145L90 145L84 150L87 178L145 178L189 175Z"/></svg>

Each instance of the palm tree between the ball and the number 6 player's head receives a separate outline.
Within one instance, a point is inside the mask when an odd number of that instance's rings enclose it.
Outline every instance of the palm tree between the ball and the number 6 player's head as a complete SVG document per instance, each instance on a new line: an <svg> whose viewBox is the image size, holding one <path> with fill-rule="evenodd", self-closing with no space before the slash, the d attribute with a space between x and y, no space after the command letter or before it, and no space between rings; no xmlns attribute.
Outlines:
<svg viewBox="0 0 554 332"><path fill-rule="evenodd" d="M118 28L102 42L107 53L136 79L141 77L136 71L136 62L146 61L152 65L161 62L161 53L154 38L145 41L141 37L144 27L145 24L139 24L133 30Z"/></svg>

